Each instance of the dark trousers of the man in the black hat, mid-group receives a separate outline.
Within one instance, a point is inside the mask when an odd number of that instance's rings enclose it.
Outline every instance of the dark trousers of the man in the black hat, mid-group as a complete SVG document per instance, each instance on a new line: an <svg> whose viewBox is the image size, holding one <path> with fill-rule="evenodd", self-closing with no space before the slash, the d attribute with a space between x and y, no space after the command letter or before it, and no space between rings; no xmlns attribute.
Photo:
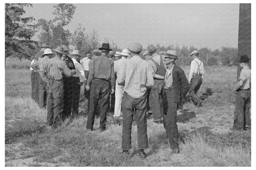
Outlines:
<svg viewBox="0 0 256 170"><path fill-rule="evenodd" d="M106 129L106 111L110 104L110 82L106 80L92 80L90 86L90 107L87 117L87 129L94 127L94 119L98 104L100 105L100 128Z"/></svg>

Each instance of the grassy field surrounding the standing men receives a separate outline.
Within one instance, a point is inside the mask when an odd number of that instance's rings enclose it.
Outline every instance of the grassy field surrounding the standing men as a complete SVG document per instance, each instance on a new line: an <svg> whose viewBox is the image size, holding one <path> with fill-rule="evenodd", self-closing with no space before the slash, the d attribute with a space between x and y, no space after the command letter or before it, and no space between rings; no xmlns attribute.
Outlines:
<svg viewBox="0 0 256 170"><path fill-rule="evenodd" d="M206 68L199 94L212 88L212 96L196 109L188 122L178 122L180 153L170 154L163 125L148 120L149 149L145 160L137 153L137 126L132 128L134 156L122 155L122 126L111 114L107 130L87 131L87 102L81 95L80 117L66 120L60 128L47 129L46 109L31 100L28 60L6 60L5 160L6 166L250 166L250 131L233 132L236 67ZM182 67L188 75L189 67ZM83 89L83 87L82 87ZM83 90L81 90L81 94ZM182 115L182 113L179 113ZM99 120L95 120L98 128Z"/></svg>

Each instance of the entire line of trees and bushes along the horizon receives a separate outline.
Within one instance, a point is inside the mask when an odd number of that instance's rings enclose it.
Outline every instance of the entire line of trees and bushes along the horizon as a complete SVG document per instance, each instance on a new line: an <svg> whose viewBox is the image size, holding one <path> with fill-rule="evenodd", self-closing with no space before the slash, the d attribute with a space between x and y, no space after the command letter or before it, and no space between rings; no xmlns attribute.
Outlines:
<svg viewBox="0 0 256 170"><path fill-rule="evenodd" d="M39 50L40 44L50 44L52 48L57 45L75 45L82 56L91 52L99 46L99 36L95 29L88 31L84 26L78 23L76 29L71 33L67 26L74 15L76 6L73 4L54 5L54 18L45 20L40 18L36 23L34 17L23 17L25 7L33 7L32 4L5 4L5 57L16 56L18 58L33 58ZM31 40L36 32L39 32L39 42ZM121 49L116 42L110 39L104 39L104 42L110 43L113 51ZM178 45L169 45L167 47L160 44L154 44L158 51L176 50L179 56L178 64L189 65L191 60L190 52L198 50L201 60L206 65L213 66L217 64L232 65L236 64L238 49L232 47L222 47L220 50L210 50L207 47L195 48L194 46L178 47ZM145 49L146 50L146 47Z"/></svg>

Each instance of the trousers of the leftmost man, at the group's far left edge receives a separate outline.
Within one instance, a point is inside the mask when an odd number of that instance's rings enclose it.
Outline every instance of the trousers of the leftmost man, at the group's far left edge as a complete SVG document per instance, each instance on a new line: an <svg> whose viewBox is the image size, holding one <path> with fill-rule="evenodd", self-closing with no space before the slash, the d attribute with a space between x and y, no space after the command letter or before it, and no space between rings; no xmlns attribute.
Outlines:
<svg viewBox="0 0 256 170"><path fill-rule="evenodd" d="M31 72L31 98L39 104L39 73Z"/></svg>

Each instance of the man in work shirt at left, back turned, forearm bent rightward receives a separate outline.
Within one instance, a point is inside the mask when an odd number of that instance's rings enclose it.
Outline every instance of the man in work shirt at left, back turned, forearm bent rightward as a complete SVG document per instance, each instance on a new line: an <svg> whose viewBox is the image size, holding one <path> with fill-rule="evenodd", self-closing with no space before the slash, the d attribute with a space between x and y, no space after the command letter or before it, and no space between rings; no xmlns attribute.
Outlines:
<svg viewBox="0 0 256 170"><path fill-rule="evenodd" d="M62 46L54 49L55 57L47 64L47 73L49 77L49 95L47 96L47 122L52 128L57 128L62 122L63 114L63 77L71 77L76 73L74 69L70 70L62 60L64 50Z"/></svg>

